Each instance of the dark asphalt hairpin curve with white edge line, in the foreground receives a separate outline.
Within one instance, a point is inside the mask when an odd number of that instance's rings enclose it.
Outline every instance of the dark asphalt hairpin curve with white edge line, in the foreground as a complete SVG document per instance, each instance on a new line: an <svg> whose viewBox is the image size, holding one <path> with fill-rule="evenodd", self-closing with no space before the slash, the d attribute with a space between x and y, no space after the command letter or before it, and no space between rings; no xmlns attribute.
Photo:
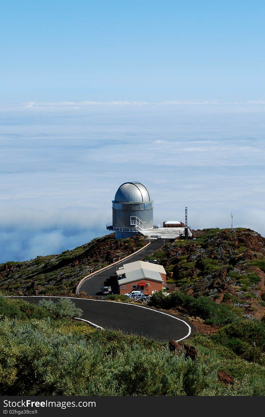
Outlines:
<svg viewBox="0 0 265 417"><path fill-rule="evenodd" d="M12 297L25 301L38 302L60 297ZM172 314L135 304L117 303L114 301L71 298L77 307L83 310L82 319L88 320L104 329L121 330L126 334L154 339L159 342L182 340L188 337L194 328L189 322Z"/></svg>

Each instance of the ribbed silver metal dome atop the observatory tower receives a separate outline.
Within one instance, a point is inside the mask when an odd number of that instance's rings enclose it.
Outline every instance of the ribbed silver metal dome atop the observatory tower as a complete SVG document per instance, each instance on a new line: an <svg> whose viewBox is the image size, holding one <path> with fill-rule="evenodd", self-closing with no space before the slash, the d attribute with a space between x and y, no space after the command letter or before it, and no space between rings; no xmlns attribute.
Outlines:
<svg viewBox="0 0 265 417"><path fill-rule="evenodd" d="M118 188L114 201L116 203L147 203L151 201L149 192L138 181L123 183Z"/></svg>

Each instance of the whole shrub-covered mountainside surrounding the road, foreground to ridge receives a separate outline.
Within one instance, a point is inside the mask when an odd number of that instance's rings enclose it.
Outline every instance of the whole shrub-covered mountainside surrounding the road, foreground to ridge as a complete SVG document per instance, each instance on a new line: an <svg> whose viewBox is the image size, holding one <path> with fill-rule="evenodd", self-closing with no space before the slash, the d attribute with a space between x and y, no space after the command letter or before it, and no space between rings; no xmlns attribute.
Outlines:
<svg viewBox="0 0 265 417"><path fill-rule="evenodd" d="M116 241L110 234L60 255L2 264L1 292L70 295L90 268L144 244L141 236ZM161 344L57 317L46 302L36 307L0 296L0 366L5 370L0 393L264 396L265 239L250 229L204 229L196 231L195 240L168 243L148 259L166 269L169 292L154 294L149 306L188 317L197 334L183 343ZM47 362L55 340L56 360ZM7 369L5 358L12 356L13 346L17 353ZM83 355L82 367L76 365L76 352ZM73 368L61 366L65 355ZM78 369L74 384L73 369Z"/></svg>

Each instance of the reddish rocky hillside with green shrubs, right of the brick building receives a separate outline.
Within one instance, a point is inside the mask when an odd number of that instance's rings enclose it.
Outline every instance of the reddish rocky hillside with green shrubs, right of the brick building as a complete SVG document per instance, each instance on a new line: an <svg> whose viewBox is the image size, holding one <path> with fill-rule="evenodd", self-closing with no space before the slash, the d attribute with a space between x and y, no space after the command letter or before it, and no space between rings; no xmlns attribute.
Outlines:
<svg viewBox="0 0 265 417"><path fill-rule="evenodd" d="M204 229L145 259L164 266L169 291L206 296L245 318L265 313L265 238L255 231Z"/></svg>

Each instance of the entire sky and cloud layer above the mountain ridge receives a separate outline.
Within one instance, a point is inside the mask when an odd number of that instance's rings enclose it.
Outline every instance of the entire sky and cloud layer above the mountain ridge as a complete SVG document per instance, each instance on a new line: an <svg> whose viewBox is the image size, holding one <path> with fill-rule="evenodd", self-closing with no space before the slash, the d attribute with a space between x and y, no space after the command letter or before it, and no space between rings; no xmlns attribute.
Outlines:
<svg viewBox="0 0 265 417"><path fill-rule="evenodd" d="M1 5L0 262L106 234L140 181L154 219L265 236L263 2Z"/></svg>

